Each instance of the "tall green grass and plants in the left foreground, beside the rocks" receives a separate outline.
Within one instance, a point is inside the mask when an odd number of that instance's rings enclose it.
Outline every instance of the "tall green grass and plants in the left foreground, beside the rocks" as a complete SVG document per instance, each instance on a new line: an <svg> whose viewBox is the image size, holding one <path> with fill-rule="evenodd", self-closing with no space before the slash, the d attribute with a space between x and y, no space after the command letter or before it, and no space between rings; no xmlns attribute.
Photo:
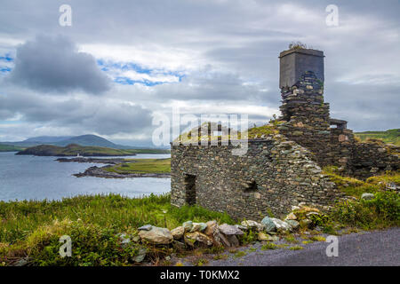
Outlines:
<svg viewBox="0 0 400 284"><path fill-rule="evenodd" d="M164 213L165 212L165 213ZM126 198L120 195L77 196L62 201L0 201L0 264L28 256L35 265L132 264L139 243L122 248L117 233L137 235L141 225L169 229L184 221L234 224L227 214L201 207L173 207L169 195ZM62 235L73 241L73 257L60 258ZM171 254L150 247L148 257ZM151 260L151 259L150 259Z"/></svg>

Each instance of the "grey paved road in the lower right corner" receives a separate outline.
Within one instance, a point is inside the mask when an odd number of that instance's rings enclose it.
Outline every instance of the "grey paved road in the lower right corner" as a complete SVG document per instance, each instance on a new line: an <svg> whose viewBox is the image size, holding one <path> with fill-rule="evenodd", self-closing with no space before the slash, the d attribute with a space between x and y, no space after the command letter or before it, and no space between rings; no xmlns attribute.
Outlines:
<svg viewBox="0 0 400 284"><path fill-rule="evenodd" d="M339 237L339 256L326 256L327 242L302 245L304 249L261 250L260 245L246 256L216 260L208 265L400 265L400 228L353 233ZM243 248L248 251L249 248Z"/></svg>

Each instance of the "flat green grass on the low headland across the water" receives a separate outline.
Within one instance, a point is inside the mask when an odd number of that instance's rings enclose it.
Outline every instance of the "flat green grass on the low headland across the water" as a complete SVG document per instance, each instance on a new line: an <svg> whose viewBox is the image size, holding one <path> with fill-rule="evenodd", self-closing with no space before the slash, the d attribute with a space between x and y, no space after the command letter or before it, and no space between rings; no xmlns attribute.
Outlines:
<svg viewBox="0 0 400 284"><path fill-rule="evenodd" d="M106 168L120 174L130 173L170 173L171 159L129 159L129 162Z"/></svg>

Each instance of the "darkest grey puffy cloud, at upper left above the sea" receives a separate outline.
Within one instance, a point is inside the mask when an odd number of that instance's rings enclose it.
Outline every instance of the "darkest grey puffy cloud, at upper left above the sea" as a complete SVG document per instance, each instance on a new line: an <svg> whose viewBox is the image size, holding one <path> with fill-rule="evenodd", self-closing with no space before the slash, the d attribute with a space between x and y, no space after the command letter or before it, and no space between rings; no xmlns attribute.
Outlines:
<svg viewBox="0 0 400 284"><path fill-rule="evenodd" d="M108 91L110 80L91 54L78 52L63 36L36 36L17 48L12 83L36 91L76 91L92 94Z"/></svg>

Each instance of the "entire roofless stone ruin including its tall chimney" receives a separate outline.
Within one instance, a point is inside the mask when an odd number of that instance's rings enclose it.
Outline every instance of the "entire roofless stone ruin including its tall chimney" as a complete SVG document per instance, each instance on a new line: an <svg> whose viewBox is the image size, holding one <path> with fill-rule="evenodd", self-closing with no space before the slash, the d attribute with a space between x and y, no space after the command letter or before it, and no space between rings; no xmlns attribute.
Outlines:
<svg viewBox="0 0 400 284"><path fill-rule="evenodd" d="M279 134L249 139L244 155L232 154L232 144L172 145L173 205L260 220L270 212L283 216L300 202L326 208L342 197L324 166L358 178L399 169L396 146L356 141L346 121L331 118L323 51L290 49L279 60Z"/></svg>

